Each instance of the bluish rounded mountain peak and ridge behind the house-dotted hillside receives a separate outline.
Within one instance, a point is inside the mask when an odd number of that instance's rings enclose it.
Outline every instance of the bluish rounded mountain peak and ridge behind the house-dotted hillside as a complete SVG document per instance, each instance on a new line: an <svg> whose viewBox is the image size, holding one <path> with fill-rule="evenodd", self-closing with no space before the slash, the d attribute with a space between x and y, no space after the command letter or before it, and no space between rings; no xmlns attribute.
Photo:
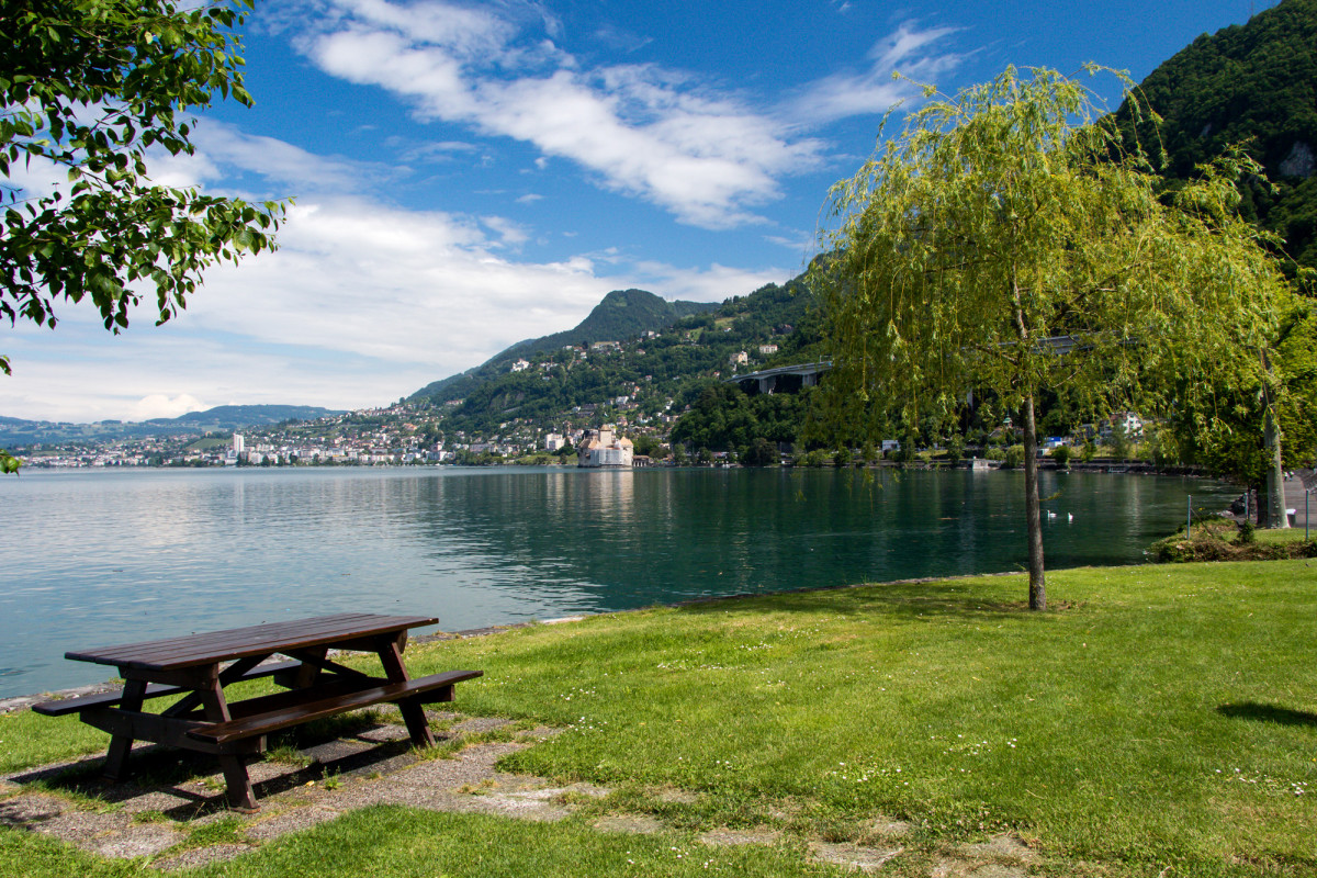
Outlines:
<svg viewBox="0 0 1317 878"><path fill-rule="evenodd" d="M633 338L645 332L666 329L682 317L715 308L718 303L712 301L668 301L644 290L614 290L574 329L519 341L475 369L427 384L412 394L411 399L420 401L462 398L481 380L506 373L514 362L532 354L560 350L565 345Z"/></svg>

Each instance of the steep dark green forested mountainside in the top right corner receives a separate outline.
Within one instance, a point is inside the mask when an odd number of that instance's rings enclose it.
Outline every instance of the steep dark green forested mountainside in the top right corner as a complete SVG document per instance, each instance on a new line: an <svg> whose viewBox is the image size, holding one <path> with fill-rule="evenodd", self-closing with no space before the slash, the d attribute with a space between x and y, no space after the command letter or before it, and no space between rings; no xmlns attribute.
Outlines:
<svg viewBox="0 0 1317 878"><path fill-rule="evenodd" d="M1198 37L1139 90L1164 120L1166 174L1188 179L1196 165L1245 145L1275 191L1246 180L1241 212L1280 234L1295 262L1317 267L1317 0L1283 0ZM1130 107L1117 112L1133 134ZM1152 125L1138 134L1155 151Z"/></svg>

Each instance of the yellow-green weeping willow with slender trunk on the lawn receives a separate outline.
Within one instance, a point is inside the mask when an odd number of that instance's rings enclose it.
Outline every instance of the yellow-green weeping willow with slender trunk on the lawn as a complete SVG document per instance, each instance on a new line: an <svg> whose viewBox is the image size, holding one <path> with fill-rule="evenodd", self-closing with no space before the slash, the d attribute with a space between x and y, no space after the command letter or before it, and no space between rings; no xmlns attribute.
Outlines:
<svg viewBox="0 0 1317 878"><path fill-rule="evenodd" d="M1258 384L1288 295L1275 241L1235 212L1235 180L1260 171L1230 153L1168 192L1093 92L1051 70L925 97L830 192L823 411L848 432L909 429L986 390L1017 413L1029 606L1044 609L1039 394L1156 413L1173 392ZM1195 411L1206 426L1210 404Z"/></svg>

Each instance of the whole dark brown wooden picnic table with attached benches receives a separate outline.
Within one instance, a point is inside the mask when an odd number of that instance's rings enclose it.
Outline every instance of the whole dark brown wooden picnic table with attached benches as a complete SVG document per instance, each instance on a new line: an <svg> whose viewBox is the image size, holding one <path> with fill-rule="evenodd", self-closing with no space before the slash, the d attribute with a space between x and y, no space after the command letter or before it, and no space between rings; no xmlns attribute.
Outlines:
<svg viewBox="0 0 1317 878"><path fill-rule="evenodd" d="M245 758L265 752L265 736L373 704L396 703L416 746L435 742L423 706L453 700L453 686L482 671L458 670L412 679L403 665L411 628L433 625L425 616L340 613L233 628L142 644L78 649L65 658L119 669L117 692L33 706L38 713L76 712L111 735L105 778L126 774L133 741L154 741L219 757L229 806L258 808ZM331 650L375 653L383 677L331 658ZM269 662L274 656L291 661ZM286 691L229 702L225 687L273 677ZM182 696L159 712L146 703Z"/></svg>

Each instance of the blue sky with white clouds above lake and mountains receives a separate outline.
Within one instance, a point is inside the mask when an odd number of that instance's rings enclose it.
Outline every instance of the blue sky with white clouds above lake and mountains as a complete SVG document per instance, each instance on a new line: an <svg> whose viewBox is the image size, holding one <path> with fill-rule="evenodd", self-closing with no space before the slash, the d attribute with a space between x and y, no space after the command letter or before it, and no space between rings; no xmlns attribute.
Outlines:
<svg viewBox="0 0 1317 878"><path fill-rule="evenodd" d="M0 415L379 405L573 326L610 290L716 301L780 283L817 251L827 187L913 101L893 70L947 93L1006 65L1139 80L1271 5L258 3L255 108L199 112L196 155L150 168L295 197L281 250L212 270L159 328L144 315L112 337L65 308L53 332L5 330ZM1114 79L1092 84L1114 107Z"/></svg>

